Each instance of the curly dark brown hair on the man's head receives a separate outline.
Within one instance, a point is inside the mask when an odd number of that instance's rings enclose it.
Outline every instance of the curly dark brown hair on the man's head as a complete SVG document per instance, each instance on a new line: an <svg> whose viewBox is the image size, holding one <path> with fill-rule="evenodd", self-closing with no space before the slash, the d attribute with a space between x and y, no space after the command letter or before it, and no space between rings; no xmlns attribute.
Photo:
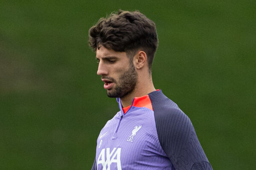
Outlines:
<svg viewBox="0 0 256 170"><path fill-rule="evenodd" d="M132 60L140 49L147 54L148 68L151 71L158 39L155 23L140 11L111 13L99 19L89 30L89 45L96 51L99 45L114 51L126 52Z"/></svg>

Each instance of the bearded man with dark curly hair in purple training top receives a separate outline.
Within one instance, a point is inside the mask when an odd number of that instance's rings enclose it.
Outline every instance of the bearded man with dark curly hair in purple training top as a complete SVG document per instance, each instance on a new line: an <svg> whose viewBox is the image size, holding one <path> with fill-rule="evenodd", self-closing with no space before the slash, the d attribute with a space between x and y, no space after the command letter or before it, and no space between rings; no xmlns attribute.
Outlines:
<svg viewBox="0 0 256 170"><path fill-rule="evenodd" d="M188 116L154 88L154 22L119 11L90 28L89 43L120 108L99 134L92 170L212 170Z"/></svg>

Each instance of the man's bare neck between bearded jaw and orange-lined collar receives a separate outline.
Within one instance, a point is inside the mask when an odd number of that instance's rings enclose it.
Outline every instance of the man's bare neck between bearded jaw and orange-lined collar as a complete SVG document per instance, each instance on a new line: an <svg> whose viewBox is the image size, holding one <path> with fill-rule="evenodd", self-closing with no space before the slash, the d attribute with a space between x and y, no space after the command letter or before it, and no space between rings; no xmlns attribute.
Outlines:
<svg viewBox="0 0 256 170"><path fill-rule="evenodd" d="M137 85L134 88L134 91L132 91L130 94L120 98L123 108L131 105L134 97L145 96L145 95L151 93L152 91L156 90L154 88L151 76L149 79L145 79L145 77L140 77L139 79L140 79L140 81L137 82Z"/></svg>

